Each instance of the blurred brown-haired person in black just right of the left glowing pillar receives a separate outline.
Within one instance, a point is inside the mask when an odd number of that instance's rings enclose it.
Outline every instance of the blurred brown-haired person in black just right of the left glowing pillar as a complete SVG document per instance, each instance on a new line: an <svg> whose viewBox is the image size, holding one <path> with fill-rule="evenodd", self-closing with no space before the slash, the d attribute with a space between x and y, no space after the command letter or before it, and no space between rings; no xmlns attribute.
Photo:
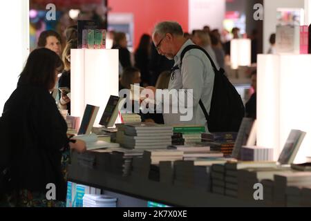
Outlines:
<svg viewBox="0 0 311 221"><path fill-rule="evenodd" d="M119 61L122 69L131 67L131 52L127 49L127 39L124 32L116 32L113 39L113 49L119 50Z"/></svg>

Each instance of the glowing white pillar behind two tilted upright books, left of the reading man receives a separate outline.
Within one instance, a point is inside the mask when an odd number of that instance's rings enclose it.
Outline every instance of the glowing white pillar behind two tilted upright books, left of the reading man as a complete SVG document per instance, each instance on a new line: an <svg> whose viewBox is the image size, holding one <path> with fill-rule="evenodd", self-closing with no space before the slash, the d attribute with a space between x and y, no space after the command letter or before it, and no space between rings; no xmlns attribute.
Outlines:
<svg viewBox="0 0 311 221"><path fill-rule="evenodd" d="M111 49L71 49L71 115L83 117L86 104L100 106L100 122L110 95L119 92L119 52Z"/></svg>

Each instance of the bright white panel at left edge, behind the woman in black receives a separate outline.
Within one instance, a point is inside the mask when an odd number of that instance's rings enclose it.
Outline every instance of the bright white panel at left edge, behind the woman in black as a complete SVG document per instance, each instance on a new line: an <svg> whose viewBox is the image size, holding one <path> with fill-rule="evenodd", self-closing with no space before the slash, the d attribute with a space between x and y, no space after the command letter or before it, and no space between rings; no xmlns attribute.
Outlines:
<svg viewBox="0 0 311 221"><path fill-rule="evenodd" d="M29 1L1 1L0 25L0 112L2 113L6 100L17 86L18 76L29 55Z"/></svg>

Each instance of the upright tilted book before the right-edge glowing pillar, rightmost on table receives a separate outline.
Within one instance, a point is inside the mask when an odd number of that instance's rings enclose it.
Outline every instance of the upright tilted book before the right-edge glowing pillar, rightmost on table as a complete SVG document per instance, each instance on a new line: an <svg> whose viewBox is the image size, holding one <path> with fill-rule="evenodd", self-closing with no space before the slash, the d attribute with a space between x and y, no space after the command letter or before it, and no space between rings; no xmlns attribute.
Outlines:
<svg viewBox="0 0 311 221"><path fill-rule="evenodd" d="M292 164L298 153L301 142L303 142L303 138L305 137L304 131L292 130L290 131L290 135L288 135L288 139L285 142L283 150L279 156L278 162L280 164Z"/></svg>

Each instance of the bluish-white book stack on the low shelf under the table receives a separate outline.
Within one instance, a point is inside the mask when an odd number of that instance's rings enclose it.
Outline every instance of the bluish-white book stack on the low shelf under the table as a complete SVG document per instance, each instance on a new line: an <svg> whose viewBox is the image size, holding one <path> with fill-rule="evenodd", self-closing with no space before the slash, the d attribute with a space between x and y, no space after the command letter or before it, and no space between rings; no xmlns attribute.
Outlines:
<svg viewBox="0 0 311 221"><path fill-rule="evenodd" d="M117 207L117 198L109 195L84 194L83 207Z"/></svg>

